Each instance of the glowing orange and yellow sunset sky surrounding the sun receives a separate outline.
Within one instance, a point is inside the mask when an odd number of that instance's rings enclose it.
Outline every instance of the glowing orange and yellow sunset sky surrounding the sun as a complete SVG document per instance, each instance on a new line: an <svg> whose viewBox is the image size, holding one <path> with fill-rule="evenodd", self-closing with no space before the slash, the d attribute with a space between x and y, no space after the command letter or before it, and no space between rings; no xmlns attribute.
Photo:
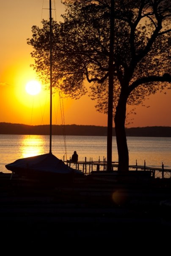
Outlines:
<svg viewBox="0 0 171 256"><path fill-rule="evenodd" d="M44 0L44 8L48 8ZM56 0L57 21L64 8L61 0ZM31 38L31 26L41 25L41 19L48 18L48 10L42 11L43 0L8 0L0 5L0 122L24 124L49 123L49 92L28 95L25 84L36 79L36 73L30 67L33 59L32 48L26 39ZM145 108L136 107L137 114L129 127L163 125L171 126L171 90L167 94L152 95ZM107 116L96 111L94 101L88 95L80 100L63 100L65 123L78 125L107 125ZM57 113L58 109L58 113ZM53 123L61 124L58 95L53 103ZM57 121L56 114L57 113Z"/></svg>

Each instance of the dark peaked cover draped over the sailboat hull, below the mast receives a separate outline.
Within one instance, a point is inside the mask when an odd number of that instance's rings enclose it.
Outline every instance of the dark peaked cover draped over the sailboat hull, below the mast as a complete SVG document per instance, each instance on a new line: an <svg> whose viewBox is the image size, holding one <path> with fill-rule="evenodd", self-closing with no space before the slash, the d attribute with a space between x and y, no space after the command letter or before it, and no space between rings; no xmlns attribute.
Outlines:
<svg viewBox="0 0 171 256"><path fill-rule="evenodd" d="M29 170L30 172L37 171L38 173L72 174L74 172L83 174L79 170L70 168L52 153L18 159L11 164L6 164L6 168L14 173L22 173Z"/></svg>

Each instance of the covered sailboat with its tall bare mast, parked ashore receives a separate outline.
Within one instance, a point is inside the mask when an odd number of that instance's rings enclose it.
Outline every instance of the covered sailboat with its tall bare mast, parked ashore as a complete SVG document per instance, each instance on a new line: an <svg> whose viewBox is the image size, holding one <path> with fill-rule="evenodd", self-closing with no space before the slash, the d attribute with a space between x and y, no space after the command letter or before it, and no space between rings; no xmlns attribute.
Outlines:
<svg viewBox="0 0 171 256"><path fill-rule="evenodd" d="M52 6L50 0L50 151L47 154L18 159L6 168L12 173L36 179L72 181L73 176L83 175L52 154Z"/></svg>

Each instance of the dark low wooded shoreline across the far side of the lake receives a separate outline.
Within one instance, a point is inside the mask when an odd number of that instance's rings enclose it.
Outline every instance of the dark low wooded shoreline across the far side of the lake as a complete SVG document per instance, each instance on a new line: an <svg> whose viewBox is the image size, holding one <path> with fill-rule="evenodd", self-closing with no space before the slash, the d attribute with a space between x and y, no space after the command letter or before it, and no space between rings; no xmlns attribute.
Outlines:
<svg viewBox="0 0 171 256"><path fill-rule="evenodd" d="M73 136L107 136L107 127L96 125L65 125L65 135ZM23 125L0 122L0 134L49 135L49 125ZM53 135L63 135L62 125L52 125ZM126 128L127 136L171 137L170 126L147 126ZM113 128L115 136L115 128Z"/></svg>

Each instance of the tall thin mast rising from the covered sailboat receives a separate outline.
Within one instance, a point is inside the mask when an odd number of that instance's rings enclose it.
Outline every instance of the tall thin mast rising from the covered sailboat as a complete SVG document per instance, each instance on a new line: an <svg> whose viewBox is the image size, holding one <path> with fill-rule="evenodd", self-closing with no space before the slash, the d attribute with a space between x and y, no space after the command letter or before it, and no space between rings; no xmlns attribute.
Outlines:
<svg viewBox="0 0 171 256"><path fill-rule="evenodd" d="M52 153L52 5L49 2L50 10L50 151Z"/></svg>

